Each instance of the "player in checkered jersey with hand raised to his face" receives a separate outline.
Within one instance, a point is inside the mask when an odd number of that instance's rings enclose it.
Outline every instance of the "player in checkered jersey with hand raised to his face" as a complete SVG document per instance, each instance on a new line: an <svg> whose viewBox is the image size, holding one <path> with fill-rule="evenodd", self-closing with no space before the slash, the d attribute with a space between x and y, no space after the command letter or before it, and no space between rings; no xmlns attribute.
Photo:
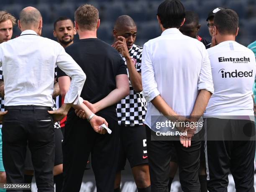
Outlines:
<svg viewBox="0 0 256 192"><path fill-rule="evenodd" d="M150 192L146 130L146 100L142 94L141 56L142 47L134 44L137 27L128 15L117 18L113 29L113 47L120 53L127 69L130 94L117 104L120 125L120 157L115 178L115 192L120 192L121 170L128 159L138 192Z"/></svg>

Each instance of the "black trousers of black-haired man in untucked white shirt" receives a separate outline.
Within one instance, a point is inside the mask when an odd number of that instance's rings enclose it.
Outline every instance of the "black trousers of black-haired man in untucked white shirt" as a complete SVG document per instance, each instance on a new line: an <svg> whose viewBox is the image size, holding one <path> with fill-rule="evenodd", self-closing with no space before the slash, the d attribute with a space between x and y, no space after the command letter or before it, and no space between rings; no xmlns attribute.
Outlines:
<svg viewBox="0 0 256 192"><path fill-rule="evenodd" d="M177 151L182 190L200 192L198 169L201 141L192 141L189 148L183 147L179 141L151 141L151 129L148 126L146 126L146 136L151 192L168 192L169 163L173 144Z"/></svg>

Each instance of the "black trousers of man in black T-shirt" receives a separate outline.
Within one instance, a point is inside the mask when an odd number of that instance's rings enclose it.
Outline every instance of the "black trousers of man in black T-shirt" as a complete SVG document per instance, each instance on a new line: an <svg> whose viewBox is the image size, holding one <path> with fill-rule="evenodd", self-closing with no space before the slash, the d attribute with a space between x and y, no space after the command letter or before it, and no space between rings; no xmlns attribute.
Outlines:
<svg viewBox="0 0 256 192"><path fill-rule="evenodd" d="M96 133L87 120L72 115L65 126L63 151L64 184L62 192L79 192L91 153L97 192L113 192L118 166L120 128L118 122L100 115L108 122L111 134Z"/></svg>

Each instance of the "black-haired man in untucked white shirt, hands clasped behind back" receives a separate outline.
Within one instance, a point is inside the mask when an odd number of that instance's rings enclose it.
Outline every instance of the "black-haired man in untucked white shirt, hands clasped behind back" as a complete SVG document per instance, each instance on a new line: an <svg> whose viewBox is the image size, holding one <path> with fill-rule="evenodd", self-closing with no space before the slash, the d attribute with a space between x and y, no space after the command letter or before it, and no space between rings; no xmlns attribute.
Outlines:
<svg viewBox="0 0 256 192"><path fill-rule="evenodd" d="M168 191L172 145L177 151L182 190L200 192L198 168L201 141L191 141L195 128L191 126L183 130L187 133L187 136L181 137L183 146L179 141L163 141L157 137L159 129L154 126L157 122L154 122L153 116L166 115L179 122L178 115L182 115L192 125L203 114L214 90L205 46L179 31L184 18L185 8L179 0L161 3L157 19L163 32L143 46L141 75L148 102L145 124L152 192Z"/></svg>

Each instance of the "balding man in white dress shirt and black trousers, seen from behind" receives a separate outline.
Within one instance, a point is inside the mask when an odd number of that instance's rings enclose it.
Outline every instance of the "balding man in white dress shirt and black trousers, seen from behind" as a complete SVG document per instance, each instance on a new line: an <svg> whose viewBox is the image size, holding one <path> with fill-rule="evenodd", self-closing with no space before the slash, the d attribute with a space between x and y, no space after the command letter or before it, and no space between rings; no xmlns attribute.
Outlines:
<svg viewBox="0 0 256 192"><path fill-rule="evenodd" d="M79 97L85 74L64 48L41 37L42 17L33 7L20 12L18 38L0 45L0 66L5 77L5 110L3 119L3 163L7 183L23 183L26 146L30 148L38 191L54 192L54 121L60 120L69 108L85 111L94 130L104 134L99 126L107 123L94 115ZM58 66L71 78L64 105L55 111L52 93L54 69ZM17 78L18 77L18 78ZM52 115L50 115L52 114ZM13 189L10 191L22 191Z"/></svg>

